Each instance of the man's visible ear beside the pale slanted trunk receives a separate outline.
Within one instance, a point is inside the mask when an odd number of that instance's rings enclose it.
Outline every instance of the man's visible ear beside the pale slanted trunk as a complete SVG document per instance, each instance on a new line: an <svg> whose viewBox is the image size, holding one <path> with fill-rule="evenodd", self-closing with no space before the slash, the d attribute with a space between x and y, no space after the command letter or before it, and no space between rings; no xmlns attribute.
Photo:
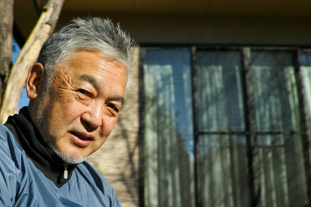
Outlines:
<svg viewBox="0 0 311 207"><path fill-rule="evenodd" d="M44 82L44 67L41 63L34 64L28 71L26 91L29 99L35 99L39 95L39 86Z"/></svg>

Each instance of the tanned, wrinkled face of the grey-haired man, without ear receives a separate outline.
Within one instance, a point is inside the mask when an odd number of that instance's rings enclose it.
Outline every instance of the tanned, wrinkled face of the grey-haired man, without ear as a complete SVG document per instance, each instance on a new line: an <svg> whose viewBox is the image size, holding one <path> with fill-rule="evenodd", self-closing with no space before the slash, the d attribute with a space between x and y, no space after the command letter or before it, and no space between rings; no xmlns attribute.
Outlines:
<svg viewBox="0 0 311 207"><path fill-rule="evenodd" d="M30 114L42 112L41 119L33 120L43 137L69 160L78 160L72 162L81 162L113 130L125 87L123 65L99 53L75 53L67 67L56 71L49 95L38 92L35 101L45 101Z"/></svg>

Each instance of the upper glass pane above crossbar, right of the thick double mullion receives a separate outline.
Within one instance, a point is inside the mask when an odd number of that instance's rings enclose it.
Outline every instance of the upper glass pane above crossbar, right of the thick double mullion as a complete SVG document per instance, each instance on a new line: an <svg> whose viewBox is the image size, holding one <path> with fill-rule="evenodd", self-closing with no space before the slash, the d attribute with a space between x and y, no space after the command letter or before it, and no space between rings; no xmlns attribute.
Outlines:
<svg viewBox="0 0 311 207"><path fill-rule="evenodd" d="M257 131L299 130L300 113L290 52L252 51Z"/></svg>

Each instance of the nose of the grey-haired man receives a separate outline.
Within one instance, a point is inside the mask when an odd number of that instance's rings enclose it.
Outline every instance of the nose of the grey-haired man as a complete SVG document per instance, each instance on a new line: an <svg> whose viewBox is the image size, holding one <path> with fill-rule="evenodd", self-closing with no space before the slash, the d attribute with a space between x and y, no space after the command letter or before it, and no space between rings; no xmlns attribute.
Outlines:
<svg viewBox="0 0 311 207"><path fill-rule="evenodd" d="M87 122L92 128L98 128L102 125L102 107L100 104L93 103L87 107L87 110L81 115L81 119Z"/></svg>

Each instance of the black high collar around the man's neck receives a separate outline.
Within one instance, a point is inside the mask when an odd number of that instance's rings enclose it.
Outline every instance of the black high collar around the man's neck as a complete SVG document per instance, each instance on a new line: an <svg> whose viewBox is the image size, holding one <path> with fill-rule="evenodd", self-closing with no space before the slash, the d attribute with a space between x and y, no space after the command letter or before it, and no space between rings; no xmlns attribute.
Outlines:
<svg viewBox="0 0 311 207"><path fill-rule="evenodd" d="M36 167L57 187L62 187L70 180L76 165L68 165L68 178L65 179L64 171L67 163L44 141L33 124L27 107L23 107L19 114L8 117L4 125L13 133Z"/></svg>

